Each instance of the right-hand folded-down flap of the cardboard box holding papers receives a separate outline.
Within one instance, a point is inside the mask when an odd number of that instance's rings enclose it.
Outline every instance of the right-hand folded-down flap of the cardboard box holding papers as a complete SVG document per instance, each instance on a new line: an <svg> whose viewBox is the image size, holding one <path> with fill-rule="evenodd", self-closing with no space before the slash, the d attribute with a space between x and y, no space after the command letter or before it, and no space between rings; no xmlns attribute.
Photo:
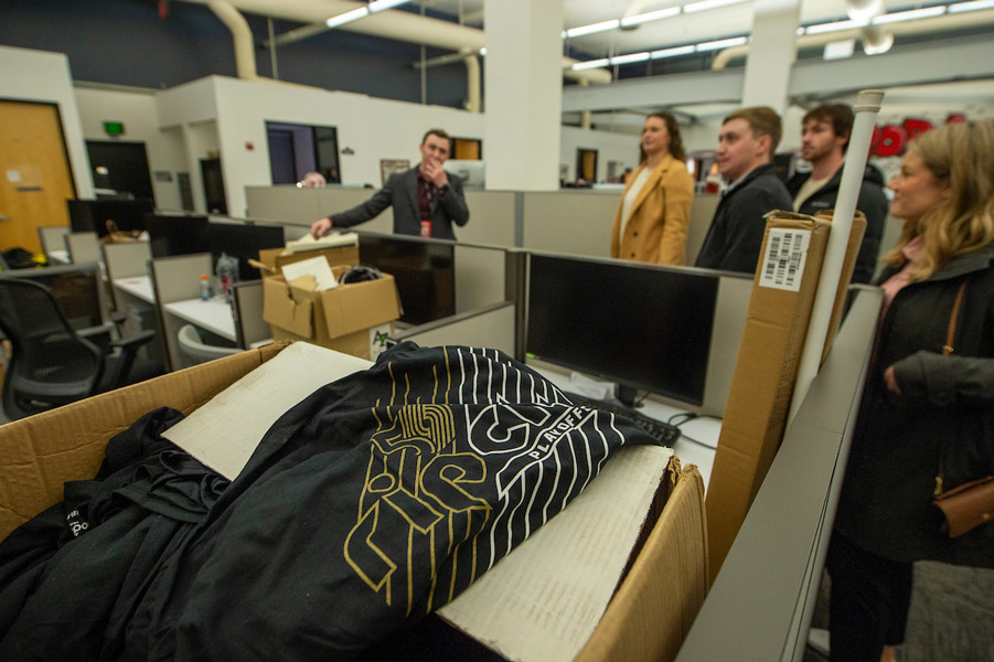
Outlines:
<svg viewBox="0 0 994 662"><path fill-rule="evenodd" d="M394 277L384 274L377 280L353 282L322 292L324 321L331 338L344 335L400 317Z"/></svg>

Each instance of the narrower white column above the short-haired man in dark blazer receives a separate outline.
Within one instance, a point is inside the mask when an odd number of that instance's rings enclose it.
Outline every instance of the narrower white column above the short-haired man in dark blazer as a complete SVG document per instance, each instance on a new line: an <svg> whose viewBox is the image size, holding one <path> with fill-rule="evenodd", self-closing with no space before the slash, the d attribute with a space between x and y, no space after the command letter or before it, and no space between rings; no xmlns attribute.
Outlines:
<svg viewBox="0 0 994 662"><path fill-rule="evenodd" d="M787 110L790 72L797 58L799 0L752 0L752 43L746 58L742 106Z"/></svg>

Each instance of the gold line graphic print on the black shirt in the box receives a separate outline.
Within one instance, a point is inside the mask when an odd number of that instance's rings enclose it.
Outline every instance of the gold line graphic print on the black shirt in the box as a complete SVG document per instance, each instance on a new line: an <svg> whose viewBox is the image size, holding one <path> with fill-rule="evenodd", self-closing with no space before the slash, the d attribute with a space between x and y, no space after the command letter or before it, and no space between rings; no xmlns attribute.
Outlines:
<svg viewBox="0 0 994 662"><path fill-rule="evenodd" d="M345 559L370 588L383 591L387 605L406 599L409 612L417 599L413 578L425 572L435 577L443 560L437 556L451 553L489 519L491 506L470 493L472 484L487 478L487 466L473 452L456 451L449 406L404 405L385 412L389 418L381 420L372 438ZM387 535L393 545L377 544ZM403 535L406 553L391 553ZM430 567L416 567L426 564Z"/></svg>

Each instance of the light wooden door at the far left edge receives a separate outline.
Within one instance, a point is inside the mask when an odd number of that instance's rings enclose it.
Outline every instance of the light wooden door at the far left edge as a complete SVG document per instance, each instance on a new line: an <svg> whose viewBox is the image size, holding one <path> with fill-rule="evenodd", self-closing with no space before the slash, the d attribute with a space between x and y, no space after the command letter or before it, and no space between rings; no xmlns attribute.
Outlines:
<svg viewBox="0 0 994 662"><path fill-rule="evenodd" d="M0 250L40 253L39 226L68 225L75 197L58 108L0 100Z"/></svg>

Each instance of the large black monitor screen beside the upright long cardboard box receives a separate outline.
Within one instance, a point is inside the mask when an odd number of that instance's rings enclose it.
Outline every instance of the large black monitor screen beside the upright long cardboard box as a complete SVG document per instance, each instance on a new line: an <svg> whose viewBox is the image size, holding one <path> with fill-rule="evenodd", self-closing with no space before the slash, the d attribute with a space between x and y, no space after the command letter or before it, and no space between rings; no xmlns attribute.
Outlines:
<svg viewBox="0 0 994 662"><path fill-rule="evenodd" d="M525 350L699 405L717 292L717 276L532 255Z"/></svg>

